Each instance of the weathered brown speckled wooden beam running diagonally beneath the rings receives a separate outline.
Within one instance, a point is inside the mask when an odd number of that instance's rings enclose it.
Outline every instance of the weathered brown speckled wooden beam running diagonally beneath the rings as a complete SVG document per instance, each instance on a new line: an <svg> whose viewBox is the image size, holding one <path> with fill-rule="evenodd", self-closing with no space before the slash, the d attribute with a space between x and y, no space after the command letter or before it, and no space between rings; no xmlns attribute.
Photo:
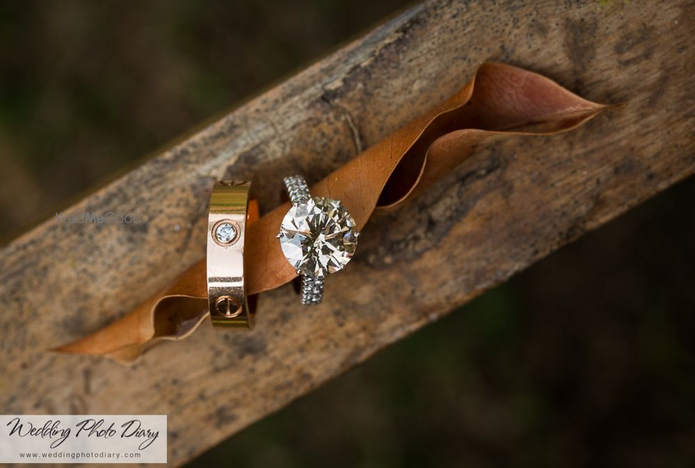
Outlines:
<svg viewBox="0 0 695 468"><path fill-rule="evenodd" d="M432 1L379 26L67 210L134 213L145 224L49 219L1 250L3 412L165 413L179 465L692 174L694 17L687 0ZM124 314L204 255L215 179L252 179L269 209L281 177L320 179L483 60L628 106L569 134L481 147L373 220L320 307L301 307L286 286L263 294L253 332L206 324L131 367L46 351Z"/></svg>

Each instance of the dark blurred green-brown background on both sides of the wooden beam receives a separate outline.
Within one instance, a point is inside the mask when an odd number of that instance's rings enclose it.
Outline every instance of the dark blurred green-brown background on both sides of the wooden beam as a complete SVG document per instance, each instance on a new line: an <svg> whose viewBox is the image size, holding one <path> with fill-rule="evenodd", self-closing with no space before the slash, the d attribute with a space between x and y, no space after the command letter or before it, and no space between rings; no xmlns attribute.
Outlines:
<svg viewBox="0 0 695 468"><path fill-rule="evenodd" d="M404 6L0 1L0 234ZM689 179L188 467L695 466L694 200Z"/></svg>

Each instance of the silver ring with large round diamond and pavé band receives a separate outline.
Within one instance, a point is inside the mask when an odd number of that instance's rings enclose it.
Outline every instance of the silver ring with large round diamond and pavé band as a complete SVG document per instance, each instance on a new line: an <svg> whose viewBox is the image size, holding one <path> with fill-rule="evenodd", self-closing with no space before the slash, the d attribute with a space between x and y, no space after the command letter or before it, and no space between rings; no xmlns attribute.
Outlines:
<svg viewBox="0 0 695 468"><path fill-rule="evenodd" d="M277 238L287 261L302 275L302 304L318 304L326 275L345 268L357 245L357 226L343 203L312 197L304 177L284 179L292 207Z"/></svg>

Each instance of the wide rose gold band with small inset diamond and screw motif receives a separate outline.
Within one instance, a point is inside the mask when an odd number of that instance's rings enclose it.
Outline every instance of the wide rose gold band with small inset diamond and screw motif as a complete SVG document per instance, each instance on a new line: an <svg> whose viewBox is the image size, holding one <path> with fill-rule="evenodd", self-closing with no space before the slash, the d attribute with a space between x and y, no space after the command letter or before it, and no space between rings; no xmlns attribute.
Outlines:
<svg viewBox="0 0 695 468"><path fill-rule="evenodd" d="M250 200L251 182L220 181L213 187L208 213L208 300L213 325L253 328L256 296L246 296L246 229L259 218Z"/></svg>

